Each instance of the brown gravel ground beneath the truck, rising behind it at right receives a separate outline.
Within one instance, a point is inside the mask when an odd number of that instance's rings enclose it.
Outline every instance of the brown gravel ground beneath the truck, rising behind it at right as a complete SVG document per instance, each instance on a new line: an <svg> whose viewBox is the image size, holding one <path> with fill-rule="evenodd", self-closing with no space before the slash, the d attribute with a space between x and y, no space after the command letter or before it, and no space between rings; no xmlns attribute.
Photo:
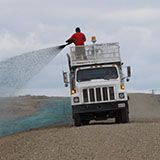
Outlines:
<svg viewBox="0 0 160 160"><path fill-rule="evenodd" d="M0 160L159 160L157 98L133 94L130 108L128 124L50 127L0 138Z"/></svg>

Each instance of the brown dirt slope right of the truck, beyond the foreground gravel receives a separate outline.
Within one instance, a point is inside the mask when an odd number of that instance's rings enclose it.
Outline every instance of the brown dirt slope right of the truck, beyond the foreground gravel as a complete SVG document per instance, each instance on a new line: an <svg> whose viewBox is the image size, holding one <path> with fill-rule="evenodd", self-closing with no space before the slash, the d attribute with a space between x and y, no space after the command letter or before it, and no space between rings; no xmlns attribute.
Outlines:
<svg viewBox="0 0 160 160"><path fill-rule="evenodd" d="M133 93L129 97L131 121L160 120L160 95Z"/></svg>

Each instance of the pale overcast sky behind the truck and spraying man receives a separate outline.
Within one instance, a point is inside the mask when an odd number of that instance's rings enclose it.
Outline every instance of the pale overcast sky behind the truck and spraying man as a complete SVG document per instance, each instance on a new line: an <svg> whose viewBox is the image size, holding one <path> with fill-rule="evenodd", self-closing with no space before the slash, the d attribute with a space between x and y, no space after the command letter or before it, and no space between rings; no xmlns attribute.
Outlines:
<svg viewBox="0 0 160 160"><path fill-rule="evenodd" d="M119 42L132 67L129 91L160 90L159 0L0 0L0 61L63 44L79 26L97 43ZM65 48L21 93L69 95L64 88ZM68 89L69 90L69 89Z"/></svg>

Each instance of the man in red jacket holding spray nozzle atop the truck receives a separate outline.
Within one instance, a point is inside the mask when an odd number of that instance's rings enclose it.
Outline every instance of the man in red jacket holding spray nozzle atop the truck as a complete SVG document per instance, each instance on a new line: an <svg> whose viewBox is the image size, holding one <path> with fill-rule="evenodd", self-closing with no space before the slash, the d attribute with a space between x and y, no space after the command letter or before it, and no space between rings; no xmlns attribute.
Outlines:
<svg viewBox="0 0 160 160"><path fill-rule="evenodd" d="M75 44L75 56L76 59L86 59L84 43L86 41L86 36L81 32L80 28L77 27L75 29L76 33L74 33L66 42L68 44Z"/></svg>

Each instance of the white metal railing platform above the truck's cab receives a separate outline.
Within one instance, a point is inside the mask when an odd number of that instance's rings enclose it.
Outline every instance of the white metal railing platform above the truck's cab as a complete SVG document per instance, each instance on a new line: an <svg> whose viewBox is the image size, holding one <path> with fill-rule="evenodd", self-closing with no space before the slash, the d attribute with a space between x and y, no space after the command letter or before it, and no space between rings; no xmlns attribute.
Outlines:
<svg viewBox="0 0 160 160"><path fill-rule="evenodd" d="M70 48L71 66L120 62L118 42L76 46Z"/></svg>

